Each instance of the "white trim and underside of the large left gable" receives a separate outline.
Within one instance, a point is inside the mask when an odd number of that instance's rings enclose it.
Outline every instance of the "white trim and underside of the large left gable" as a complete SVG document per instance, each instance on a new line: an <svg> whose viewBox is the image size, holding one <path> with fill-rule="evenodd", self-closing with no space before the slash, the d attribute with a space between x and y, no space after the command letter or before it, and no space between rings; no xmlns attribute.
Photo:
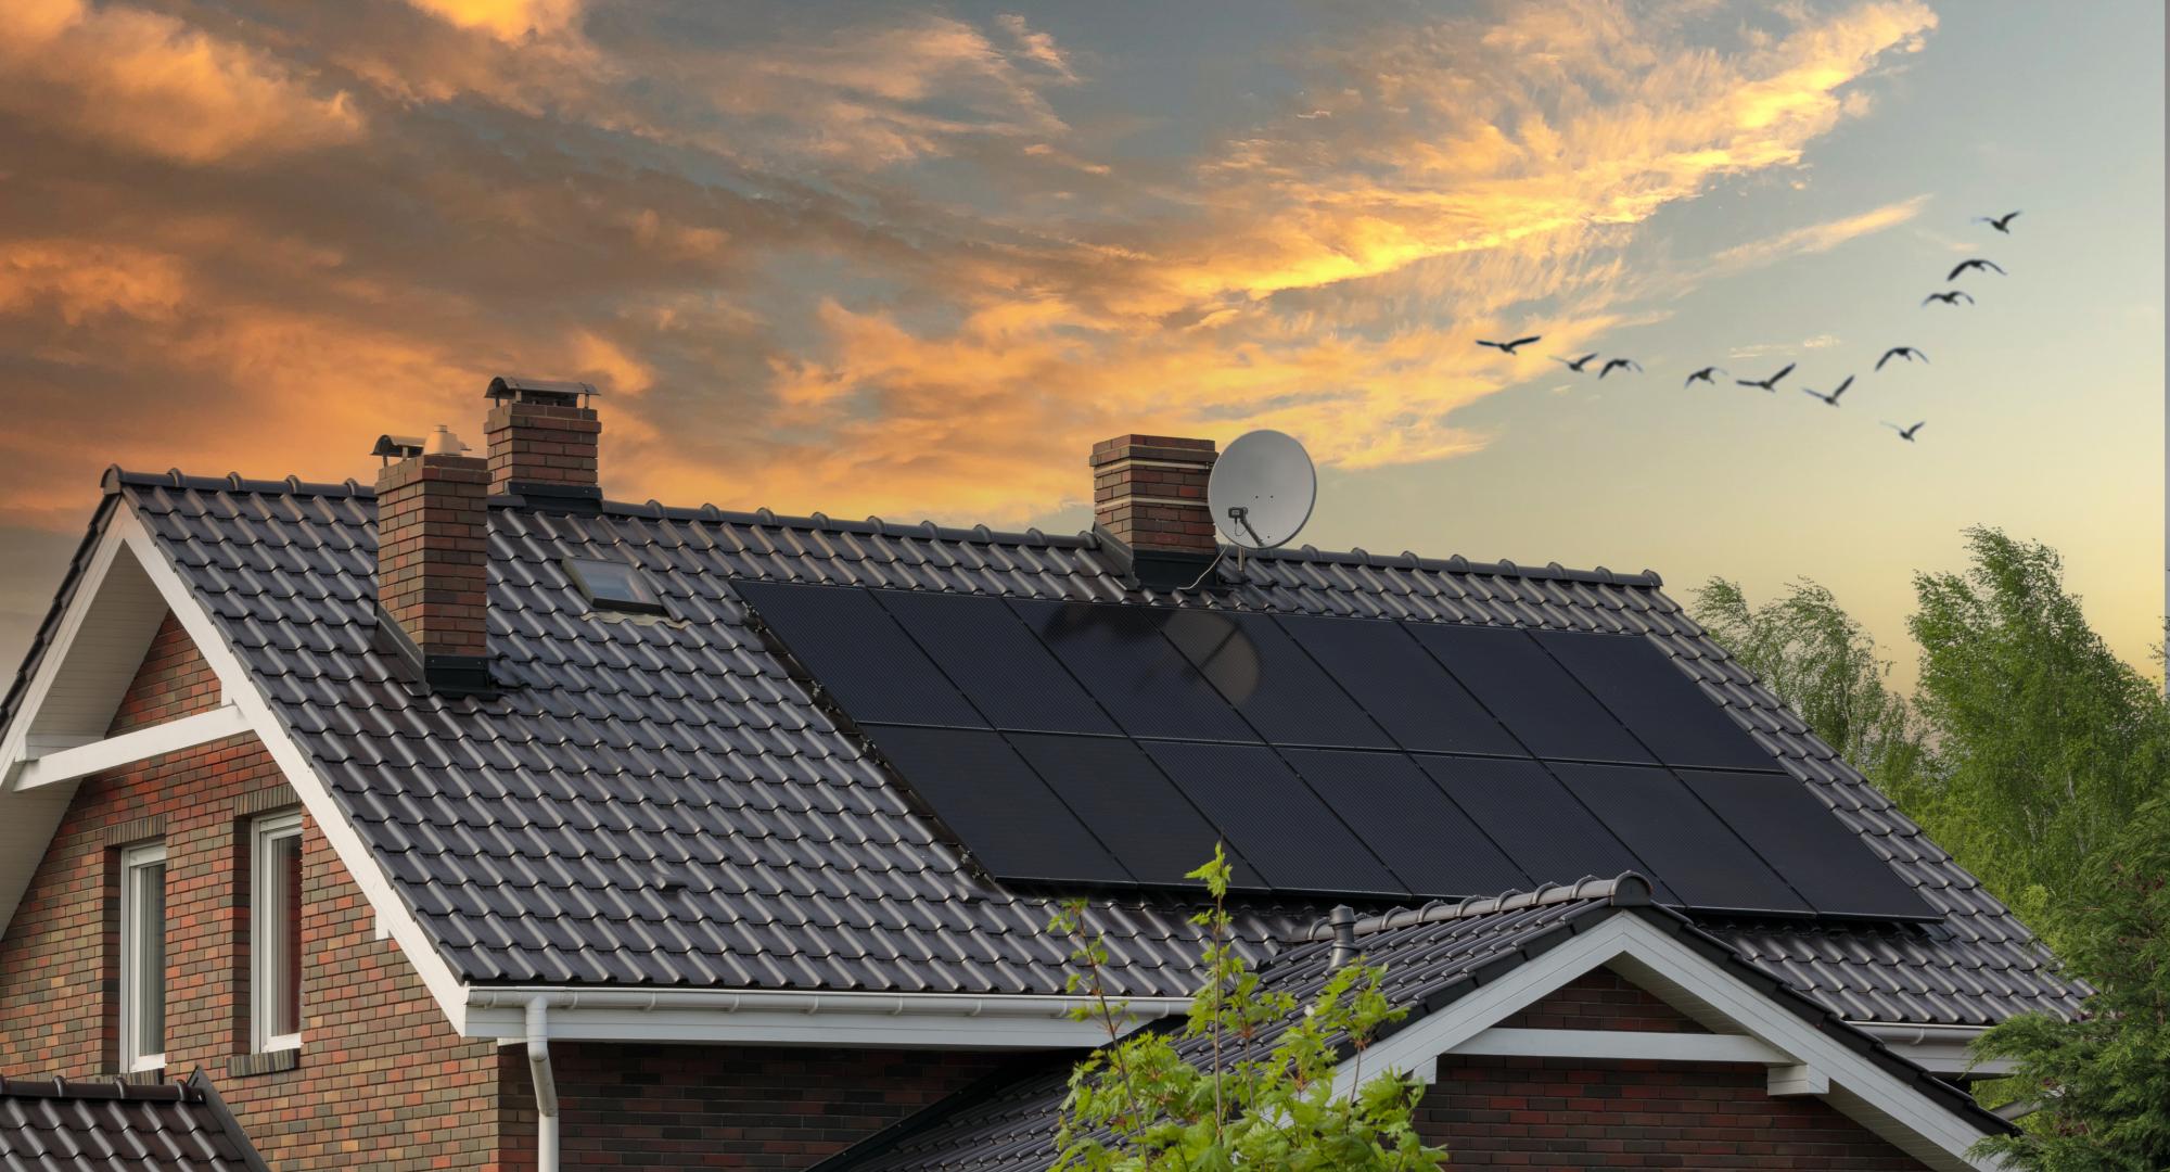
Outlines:
<svg viewBox="0 0 2170 1172"><path fill-rule="evenodd" d="M126 562L122 562L122 558L126 558ZM226 701L226 705L217 712L141 729L143 734L154 734L158 729L187 725L187 729L167 731L161 738L143 738L135 744L152 747L154 751L145 755L156 755L171 751L169 747L158 749L163 738L171 736L197 736L215 729L224 729L221 736L254 731L265 751L271 753L271 760L278 762L286 784L293 786L295 797L302 799L310 820L315 820L315 825L323 831L323 838L332 844L339 862L345 864L347 875L354 877L354 883L362 890L371 912L375 912L378 925L391 929L393 940L399 942L399 951L406 953L408 964L412 964L421 974L421 981L430 990L438 1009L447 1020L451 1020L454 1029L462 1029L467 1020L467 990L460 985L460 979L451 972L451 966L445 964L445 957L438 955L436 946L423 933L421 920L414 918L408 905L399 899L399 892L393 890L391 877L384 875L375 855L332 801L332 792L326 788L323 779L317 777L308 755L293 742L291 736L286 736L286 727L280 725L278 714L271 712L271 703L256 688L254 675L226 645L226 638L219 634L210 614L197 601L189 584L182 582L174 566L165 560L165 551L158 547L158 540L126 506L115 506L115 514L106 523L106 532L91 556L91 564L85 569L74 599L69 599L61 629L56 632L52 647L46 649L46 658L39 662L39 671L33 677L30 688L24 692L24 705L9 727L7 742L0 744L0 779L13 779L9 786L0 788L0 859L7 859L0 864L0 931L7 931L7 922L13 918L15 907L28 888L33 870L46 855L61 814L74 797L74 784L59 777L48 779L50 784L30 792L22 792L22 773L30 773L28 766L35 764L30 757L37 755L26 751L26 734L37 725L37 714L52 695L52 684L63 673L65 662L78 651L78 638L95 638L95 629L85 625L85 616L93 610L93 603L106 586L115 564L124 564L128 571L139 569L150 579L150 586L163 601L158 614L163 616L167 610L174 612L176 621L180 621L182 629L189 634L189 640L195 642L197 653L204 655L204 662L210 664L213 675L217 675L219 692ZM156 629L156 619L152 621L152 629ZM135 649L137 664L141 662L145 649L148 636L145 645ZM132 677L137 664L128 666L128 677ZM126 688L128 677L122 677L115 688L115 705L119 703L119 690ZM65 749L63 753L52 753L52 757L82 753L98 749L100 744L128 740L132 736L137 734L106 738L98 744L82 744L80 749ZM76 757L76 762L82 760L89 757ZM122 760L113 764L128 762ZM56 762L48 768L72 766ZM111 768L111 764L98 768ZM80 773L76 777L80 777Z"/></svg>

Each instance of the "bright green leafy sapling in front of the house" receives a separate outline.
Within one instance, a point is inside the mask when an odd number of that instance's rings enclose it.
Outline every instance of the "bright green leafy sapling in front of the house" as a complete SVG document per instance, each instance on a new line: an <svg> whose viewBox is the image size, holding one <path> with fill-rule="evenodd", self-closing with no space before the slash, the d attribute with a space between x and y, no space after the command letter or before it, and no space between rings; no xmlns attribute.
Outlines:
<svg viewBox="0 0 2170 1172"><path fill-rule="evenodd" d="M1191 918L1207 929L1207 983L1176 1033L1139 1029L1122 1037L1128 1022L1107 992L1107 946L1085 931L1083 901L1061 905L1048 925L1072 944L1070 992L1085 998L1074 1016L1100 1022L1109 1035L1070 1074L1052 1172L1439 1168L1445 1152L1428 1148L1410 1126L1421 1083L1361 1074L1378 1027L1406 1014L1387 1005L1384 970L1343 966L1298 1014L1295 998L1267 990L1237 953L1222 851L1191 877L1213 894L1213 905ZM1291 1024L1272 1035L1278 1022ZM1343 1037L1356 1055L1352 1094L1335 1094Z"/></svg>

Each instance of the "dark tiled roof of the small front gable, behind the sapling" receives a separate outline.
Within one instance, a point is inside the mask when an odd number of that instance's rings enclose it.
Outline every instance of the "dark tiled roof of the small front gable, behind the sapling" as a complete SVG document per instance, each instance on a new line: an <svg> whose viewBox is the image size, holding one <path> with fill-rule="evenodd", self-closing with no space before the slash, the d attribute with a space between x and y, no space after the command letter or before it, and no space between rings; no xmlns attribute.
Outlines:
<svg viewBox="0 0 2170 1172"><path fill-rule="evenodd" d="M1723 940L1697 929L1669 907L1649 905L1649 883L1636 875L1621 879L1549 886L1499 899L1434 903L1374 916L1356 925L1365 964L1384 968L1380 992L1408 1016L1380 1031L1391 1037L1454 1005L1460 996L1497 983L1510 972L1593 929L1610 916L1641 916L1684 940L1708 959L1749 974L1773 1001L1814 1022L1825 1035L1871 1057L1877 1066L1918 1087L1944 1109L1990 1133L2012 1124L1981 1109L1973 1096L1914 1063L1892 1055L1881 1042L1849 1027L1827 1007L1753 968ZM1285 992L1309 1005L1332 974L1332 931L1315 925L1313 942L1289 948L1261 966L1261 992ZM1291 1024L1285 1020L1278 1029ZM1176 1029L1176 1022L1159 1029ZM1278 1037L1269 1027L1256 1042L1269 1048ZM1209 1037L1176 1044L1194 1066L1211 1061ZM1343 1059L1348 1057L1343 1046ZM1070 1070L1078 1055L1048 1055L1035 1068L1011 1072L920 1111L820 1163L820 1172L1039 1172L1055 1159L1057 1111L1070 1092Z"/></svg>

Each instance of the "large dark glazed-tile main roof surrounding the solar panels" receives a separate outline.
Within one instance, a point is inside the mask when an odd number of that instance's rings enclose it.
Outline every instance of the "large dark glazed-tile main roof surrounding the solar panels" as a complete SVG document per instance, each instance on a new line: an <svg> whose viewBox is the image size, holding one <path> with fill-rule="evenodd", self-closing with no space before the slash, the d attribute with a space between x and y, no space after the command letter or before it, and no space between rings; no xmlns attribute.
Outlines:
<svg viewBox="0 0 2170 1172"><path fill-rule="evenodd" d="M1988 1024L2077 1005L2025 927L1654 573L1306 547L1246 558L1228 590L1165 595L1128 588L1120 551L1092 534L495 497L490 649L508 688L447 699L371 651L369 488L115 469L106 493L156 538L469 983L1061 992L1046 901L972 868L762 645L731 586L757 577L1643 634L1942 914L1701 927L1847 1018ZM605 549L647 569L681 619L590 614L560 560ZM1263 957L1317 912L1246 905L1239 933ZM1167 896L1094 903L1115 992L1194 988L1187 914Z"/></svg>

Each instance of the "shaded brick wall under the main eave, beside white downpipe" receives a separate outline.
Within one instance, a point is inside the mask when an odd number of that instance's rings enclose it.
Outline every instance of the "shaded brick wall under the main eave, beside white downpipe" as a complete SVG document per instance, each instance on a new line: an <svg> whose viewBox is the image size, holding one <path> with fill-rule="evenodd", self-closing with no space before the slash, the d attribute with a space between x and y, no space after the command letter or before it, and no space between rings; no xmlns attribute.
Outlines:
<svg viewBox="0 0 2170 1172"><path fill-rule="evenodd" d="M996 1055L551 1044L564 1168L812 1168L992 1072ZM506 1168L534 1168L527 1059L506 1050Z"/></svg>

